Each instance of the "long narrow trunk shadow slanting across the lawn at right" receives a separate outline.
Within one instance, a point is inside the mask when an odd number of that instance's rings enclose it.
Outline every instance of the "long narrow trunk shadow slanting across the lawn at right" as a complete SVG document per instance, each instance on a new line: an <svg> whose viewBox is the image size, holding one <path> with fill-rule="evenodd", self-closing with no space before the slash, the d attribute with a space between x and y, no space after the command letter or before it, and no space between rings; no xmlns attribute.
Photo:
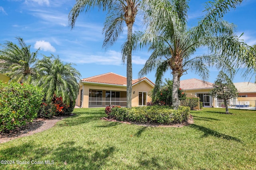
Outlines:
<svg viewBox="0 0 256 170"><path fill-rule="evenodd" d="M192 127L192 128L195 128L197 130L200 130L200 131L204 132L204 135L202 137L208 137L210 135L210 136L226 139L228 141L233 140L233 141L236 141L236 142L239 142L239 143L243 143L240 139L238 139L236 137L232 137L232 136L229 136L229 135L225 135L223 133L219 133L219 132L214 131L214 130L212 130L210 128L207 128L207 127L203 127L203 126L196 125L196 124L191 124L191 125L189 125L189 127Z"/></svg>

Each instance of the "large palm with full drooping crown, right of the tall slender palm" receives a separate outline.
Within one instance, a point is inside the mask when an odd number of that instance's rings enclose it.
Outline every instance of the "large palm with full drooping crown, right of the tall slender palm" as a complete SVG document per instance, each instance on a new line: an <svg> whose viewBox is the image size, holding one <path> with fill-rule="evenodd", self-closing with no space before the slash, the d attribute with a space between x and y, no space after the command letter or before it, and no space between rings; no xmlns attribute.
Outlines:
<svg viewBox="0 0 256 170"><path fill-rule="evenodd" d="M168 69L172 70L174 109L178 109L179 105L179 78L187 69L199 72L203 78L207 78L204 68L215 65L232 75L232 57L244 55L244 46L234 35L234 25L221 20L229 8L238 4L238 0L208 3L211 6L206 9L206 16L196 27L188 29L187 0L148 0L143 7L148 21L146 31L132 35L131 41L123 46L124 52L130 47L148 47L153 51L139 75L144 76L156 70L156 89L160 87L164 73ZM196 49L202 46L208 47L210 54L191 59Z"/></svg>

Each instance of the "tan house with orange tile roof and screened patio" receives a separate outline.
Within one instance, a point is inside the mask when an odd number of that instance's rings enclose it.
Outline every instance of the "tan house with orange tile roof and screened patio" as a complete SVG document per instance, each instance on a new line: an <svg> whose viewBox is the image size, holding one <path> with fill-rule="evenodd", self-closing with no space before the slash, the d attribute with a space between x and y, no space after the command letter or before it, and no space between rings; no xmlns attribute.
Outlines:
<svg viewBox="0 0 256 170"><path fill-rule="evenodd" d="M154 83L146 77L132 80L132 107L146 106L151 101L149 92L152 88ZM81 80L76 106L88 108L109 105L126 107L126 77L109 72Z"/></svg>

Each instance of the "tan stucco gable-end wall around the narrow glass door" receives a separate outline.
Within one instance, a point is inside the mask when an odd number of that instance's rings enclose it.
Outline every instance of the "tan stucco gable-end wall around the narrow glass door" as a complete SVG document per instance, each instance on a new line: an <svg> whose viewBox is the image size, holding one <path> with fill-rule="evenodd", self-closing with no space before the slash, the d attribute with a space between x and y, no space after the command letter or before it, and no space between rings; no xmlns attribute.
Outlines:
<svg viewBox="0 0 256 170"><path fill-rule="evenodd" d="M147 82L142 81L138 84L132 86L132 107L139 106L139 92L147 92L147 101L151 102L152 99L149 96L149 92L153 87L150 86ZM134 94L133 94L134 92Z"/></svg>

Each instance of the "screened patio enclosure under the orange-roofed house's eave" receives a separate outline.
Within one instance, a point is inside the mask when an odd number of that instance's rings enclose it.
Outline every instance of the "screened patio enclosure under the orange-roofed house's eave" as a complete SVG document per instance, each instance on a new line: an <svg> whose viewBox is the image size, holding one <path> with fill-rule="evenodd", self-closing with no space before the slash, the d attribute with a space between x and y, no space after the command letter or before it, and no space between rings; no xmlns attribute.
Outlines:
<svg viewBox="0 0 256 170"><path fill-rule="evenodd" d="M126 91L89 90L89 107L126 106Z"/></svg>

